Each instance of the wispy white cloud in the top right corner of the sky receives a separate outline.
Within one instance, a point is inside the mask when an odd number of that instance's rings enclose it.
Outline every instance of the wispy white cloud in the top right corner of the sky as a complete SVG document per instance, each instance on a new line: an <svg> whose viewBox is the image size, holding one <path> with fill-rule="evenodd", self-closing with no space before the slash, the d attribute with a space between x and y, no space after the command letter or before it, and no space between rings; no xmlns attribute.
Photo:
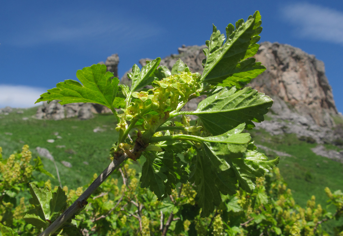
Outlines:
<svg viewBox="0 0 343 236"><path fill-rule="evenodd" d="M297 36L343 44L343 12L310 3L286 5L281 11L296 26Z"/></svg>

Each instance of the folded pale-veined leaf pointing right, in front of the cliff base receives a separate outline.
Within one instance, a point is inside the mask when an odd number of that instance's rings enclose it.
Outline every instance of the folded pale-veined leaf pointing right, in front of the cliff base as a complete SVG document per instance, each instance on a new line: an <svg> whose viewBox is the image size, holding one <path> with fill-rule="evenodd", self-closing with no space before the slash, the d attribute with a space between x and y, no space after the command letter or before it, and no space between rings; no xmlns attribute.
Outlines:
<svg viewBox="0 0 343 236"><path fill-rule="evenodd" d="M250 87L238 91L224 87L202 100L197 110L183 113L199 116L205 128L218 135L244 122L246 129L255 127L251 121L263 121L272 103L270 97Z"/></svg>

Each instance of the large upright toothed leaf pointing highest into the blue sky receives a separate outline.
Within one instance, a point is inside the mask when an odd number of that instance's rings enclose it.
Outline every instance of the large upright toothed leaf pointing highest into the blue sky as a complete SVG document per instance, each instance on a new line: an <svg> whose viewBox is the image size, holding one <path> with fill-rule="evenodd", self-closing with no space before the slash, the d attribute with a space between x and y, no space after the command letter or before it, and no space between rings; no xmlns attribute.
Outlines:
<svg viewBox="0 0 343 236"><path fill-rule="evenodd" d="M255 59L247 59L255 55L259 48L256 42L262 31L260 25L261 15L256 11L245 23L243 19L237 21L236 29L229 24L225 42L224 34L213 25L211 38L206 41L209 48L203 49L206 59L203 61L202 81L211 85L222 83L241 88L261 74L265 67L256 63Z"/></svg>

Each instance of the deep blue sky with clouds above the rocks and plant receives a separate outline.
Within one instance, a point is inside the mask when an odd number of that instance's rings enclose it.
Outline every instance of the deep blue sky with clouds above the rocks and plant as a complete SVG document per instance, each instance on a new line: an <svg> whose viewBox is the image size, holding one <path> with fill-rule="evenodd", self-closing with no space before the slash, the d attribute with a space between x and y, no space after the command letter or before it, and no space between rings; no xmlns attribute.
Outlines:
<svg viewBox="0 0 343 236"><path fill-rule="evenodd" d="M121 77L141 58L203 45L212 23L262 15L261 42L289 44L324 61L343 112L343 1L2 1L0 108L31 107L76 71L118 53Z"/></svg>

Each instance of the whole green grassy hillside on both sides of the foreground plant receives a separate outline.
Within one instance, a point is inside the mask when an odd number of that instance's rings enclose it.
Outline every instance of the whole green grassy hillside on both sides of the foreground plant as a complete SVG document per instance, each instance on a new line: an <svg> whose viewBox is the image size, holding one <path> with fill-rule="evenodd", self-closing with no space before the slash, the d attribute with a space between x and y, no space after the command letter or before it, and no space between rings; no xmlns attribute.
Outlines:
<svg viewBox="0 0 343 236"><path fill-rule="evenodd" d="M21 149L24 144L30 146L34 156L37 156L36 147L47 148L57 162L62 184L71 188L87 184L94 173L105 169L109 163L109 149L117 139L113 115L96 114L94 119L86 121L77 118L52 121L33 118L36 110L31 108L23 110L22 114L14 111L0 115L0 146L4 157ZM95 128L101 128L102 132L95 133ZM281 156L278 167L301 207L306 207L306 201L312 195L316 196L317 203L325 206L328 199L324 193L325 187L332 191L343 190L342 163L313 153L311 148L317 144L301 141L295 135L271 136L263 129L249 133L255 144L269 148L264 152L270 158L277 156L270 149L292 155ZM50 143L48 139L55 141ZM324 146L340 150L335 146ZM42 160L46 169L56 176L54 164L46 158ZM70 162L72 167L65 167L61 161ZM39 178L46 180L47 176L41 175ZM58 185L57 179L52 180L52 183Z"/></svg>

